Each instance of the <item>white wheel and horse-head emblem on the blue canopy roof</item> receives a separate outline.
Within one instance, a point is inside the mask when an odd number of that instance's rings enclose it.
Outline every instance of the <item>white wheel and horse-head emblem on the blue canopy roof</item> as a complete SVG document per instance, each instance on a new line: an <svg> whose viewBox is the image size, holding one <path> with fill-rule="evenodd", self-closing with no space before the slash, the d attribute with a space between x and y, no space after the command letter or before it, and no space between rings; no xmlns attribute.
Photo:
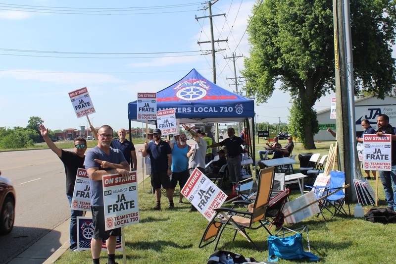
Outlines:
<svg viewBox="0 0 396 264"><path fill-rule="evenodd" d="M186 101L196 101L204 98L210 86L206 80L183 80L175 88L176 97Z"/></svg>

